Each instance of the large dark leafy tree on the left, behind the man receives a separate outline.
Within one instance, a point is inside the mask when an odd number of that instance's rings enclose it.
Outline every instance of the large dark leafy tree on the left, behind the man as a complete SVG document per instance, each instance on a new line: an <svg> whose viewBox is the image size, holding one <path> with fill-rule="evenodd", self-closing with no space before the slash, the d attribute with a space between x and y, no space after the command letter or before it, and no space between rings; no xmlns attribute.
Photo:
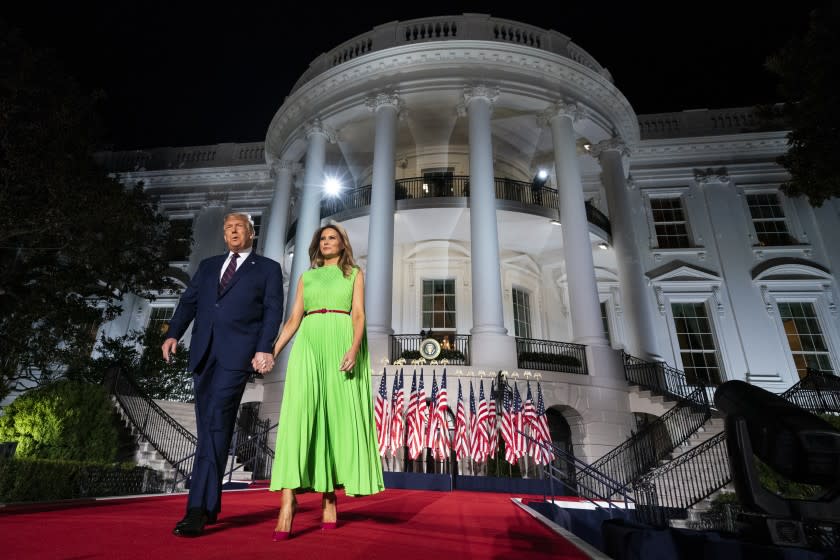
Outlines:
<svg viewBox="0 0 840 560"><path fill-rule="evenodd" d="M100 99L0 22L0 398L88 360L124 294L169 287L166 219L92 159Z"/></svg>

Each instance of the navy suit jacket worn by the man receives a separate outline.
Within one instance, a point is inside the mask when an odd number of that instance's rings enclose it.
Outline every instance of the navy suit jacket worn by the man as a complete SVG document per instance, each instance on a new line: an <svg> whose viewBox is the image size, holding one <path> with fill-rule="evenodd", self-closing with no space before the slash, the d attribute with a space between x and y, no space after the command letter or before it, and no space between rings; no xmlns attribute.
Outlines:
<svg viewBox="0 0 840 560"><path fill-rule="evenodd" d="M180 339L191 321L190 370L212 350L225 369L249 371L256 352L271 352L283 320L283 272L251 252L218 294L227 254L201 261L169 321L168 337Z"/></svg>

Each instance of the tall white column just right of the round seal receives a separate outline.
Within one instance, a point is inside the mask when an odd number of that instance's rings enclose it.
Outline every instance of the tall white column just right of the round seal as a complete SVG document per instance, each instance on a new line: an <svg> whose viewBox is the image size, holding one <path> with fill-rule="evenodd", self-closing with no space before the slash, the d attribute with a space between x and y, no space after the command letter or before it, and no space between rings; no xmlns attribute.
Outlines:
<svg viewBox="0 0 840 560"><path fill-rule="evenodd" d="M490 115L498 88L464 90L470 135L470 244L472 273L472 363L516 367L516 341L507 336L502 311L499 232Z"/></svg>

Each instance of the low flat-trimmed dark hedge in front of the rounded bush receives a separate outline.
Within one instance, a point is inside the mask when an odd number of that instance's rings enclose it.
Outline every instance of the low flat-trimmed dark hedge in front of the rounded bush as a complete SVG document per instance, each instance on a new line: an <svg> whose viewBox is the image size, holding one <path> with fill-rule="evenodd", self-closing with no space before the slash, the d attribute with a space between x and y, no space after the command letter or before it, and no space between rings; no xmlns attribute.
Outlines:
<svg viewBox="0 0 840 560"><path fill-rule="evenodd" d="M0 502L69 500L163 491L154 471L132 464L54 459L0 461Z"/></svg>

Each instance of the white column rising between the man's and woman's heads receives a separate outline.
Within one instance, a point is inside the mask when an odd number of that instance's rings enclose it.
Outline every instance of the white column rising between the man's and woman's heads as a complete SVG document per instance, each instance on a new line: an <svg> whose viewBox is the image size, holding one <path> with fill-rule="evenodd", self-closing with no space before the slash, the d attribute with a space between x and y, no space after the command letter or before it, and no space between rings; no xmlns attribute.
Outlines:
<svg viewBox="0 0 840 560"><path fill-rule="evenodd" d="M324 162L326 160L327 141L334 141L333 134L319 119L309 124L306 130L309 146L306 150L306 164L303 175L300 211L295 230L295 256L292 259L292 273L289 275L289 297L286 303L286 316L292 309L300 276L309 270L309 243L315 230L321 224L321 194L324 190Z"/></svg>

